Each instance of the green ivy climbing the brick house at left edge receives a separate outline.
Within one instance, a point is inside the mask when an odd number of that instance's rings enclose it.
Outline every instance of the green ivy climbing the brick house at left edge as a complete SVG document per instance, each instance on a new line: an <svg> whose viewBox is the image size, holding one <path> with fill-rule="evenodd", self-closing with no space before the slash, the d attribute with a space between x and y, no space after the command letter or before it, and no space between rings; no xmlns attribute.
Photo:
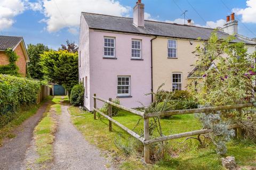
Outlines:
<svg viewBox="0 0 256 170"><path fill-rule="evenodd" d="M19 67L15 64L15 62L18 60L18 55L11 49L6 49L5 54L9 58L9 64L8 65L0 65L0 74L10 74L19 76L20 73Z"/></svg>

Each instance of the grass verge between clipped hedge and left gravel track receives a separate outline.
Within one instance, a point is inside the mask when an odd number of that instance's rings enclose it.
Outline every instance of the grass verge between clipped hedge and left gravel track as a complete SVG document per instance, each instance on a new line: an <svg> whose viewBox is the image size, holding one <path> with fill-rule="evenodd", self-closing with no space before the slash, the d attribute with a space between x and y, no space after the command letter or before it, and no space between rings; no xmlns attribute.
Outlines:
<svg viewBox="0 0 256 170"><path fill-rule="evenodd" d="M12 134L12 131L15 128L17 128L19 125L21 125L27 118L34 115L37 112L38 108L41 107L46 101L49 101L50 99L51 99L51 96L47 97L38 105L34 104L30 106L21 106L17 111L17 113L14 113L17 115L17 117L0 129L0 146L2 146L2 140L4 138L15 138L15 135Z"/></svg>

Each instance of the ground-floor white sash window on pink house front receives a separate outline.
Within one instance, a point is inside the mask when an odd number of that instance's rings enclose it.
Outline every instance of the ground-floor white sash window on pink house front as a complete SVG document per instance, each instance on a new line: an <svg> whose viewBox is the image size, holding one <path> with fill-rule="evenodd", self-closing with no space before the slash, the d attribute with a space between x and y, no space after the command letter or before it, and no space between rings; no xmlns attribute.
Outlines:
<svg viewBox="0 0 256 170"><path fill-rule="evenodd" d="M130 96L130 76L118 76L117 77L117 96Z"/></svg>

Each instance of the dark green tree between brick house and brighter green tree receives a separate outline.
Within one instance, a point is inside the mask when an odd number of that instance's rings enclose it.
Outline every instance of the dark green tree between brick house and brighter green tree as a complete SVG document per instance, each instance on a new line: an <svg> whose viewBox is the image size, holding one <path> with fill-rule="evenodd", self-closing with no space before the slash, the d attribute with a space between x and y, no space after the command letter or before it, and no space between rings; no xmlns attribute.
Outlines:
<svg viewBox="0 0 256 170"><path fill-rule="evenodd" d="M39 64L41 54L46 51L49 51L49 48L43 44L29 44L28 45L28 56L30 62L28 63L27 72L28 75L33 79L42 80L43 79L43 72L42 66Z"/></svg>

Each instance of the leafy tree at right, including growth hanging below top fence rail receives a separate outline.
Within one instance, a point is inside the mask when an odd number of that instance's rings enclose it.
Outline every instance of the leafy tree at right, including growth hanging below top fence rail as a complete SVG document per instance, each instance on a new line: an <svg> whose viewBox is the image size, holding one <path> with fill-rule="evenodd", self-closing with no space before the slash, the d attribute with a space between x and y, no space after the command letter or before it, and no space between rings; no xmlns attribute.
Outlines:
<svg viewBox="0 0 256 170"><path fill-rule="evenodd" d="M219 39L213 32L210 39L203 46L198 46L195 55L198 60L195 64L198 76L199 91L194 91L195 97L201 107L243 104L255 101L255 56L256 53L247 53L243 43L230 43L233 37ZM190 82L191 91L195 88ZM199 119L204 128L213 130L211 141L217 146L218 154L226 154L225 142L234 135L233 130L228 130L228 124L243 122L255 134L255 116L253 109L233 109L231 111L217 111L202 113ZM243 127L247 128L249 126ZM254 130L253 130L254 129ZM250 136L250 135L249 135Z"/></svg>

